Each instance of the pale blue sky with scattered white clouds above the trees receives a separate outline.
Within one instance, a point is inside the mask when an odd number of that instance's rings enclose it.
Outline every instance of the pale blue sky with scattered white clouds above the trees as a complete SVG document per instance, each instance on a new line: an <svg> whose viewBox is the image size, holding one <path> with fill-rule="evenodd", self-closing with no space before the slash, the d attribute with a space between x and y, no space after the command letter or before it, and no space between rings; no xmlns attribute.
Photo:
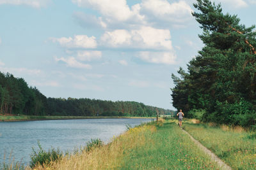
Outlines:
<svg viewBox="0 0 256 170"><path fill-rule="evenodd" d="M46 97L172 109L171 74L203 43L192 0L0 0L0 71ZM223 0L255 24L256 0Z"/></svg>

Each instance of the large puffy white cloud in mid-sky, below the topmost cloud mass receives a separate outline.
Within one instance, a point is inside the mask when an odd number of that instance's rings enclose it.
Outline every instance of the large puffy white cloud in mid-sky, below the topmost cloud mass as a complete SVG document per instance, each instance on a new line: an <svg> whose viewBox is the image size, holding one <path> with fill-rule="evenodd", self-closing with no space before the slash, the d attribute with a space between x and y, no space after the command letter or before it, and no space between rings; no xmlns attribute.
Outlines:
<svg viewBox="0 0 256 170"><path fill-rule="evenodd" d="M142 26L140 29L115 30L105 32L100 38L102 45L125 48L150 48L152 50L172 50L171 35L168 29L155 29Z"/></svg>

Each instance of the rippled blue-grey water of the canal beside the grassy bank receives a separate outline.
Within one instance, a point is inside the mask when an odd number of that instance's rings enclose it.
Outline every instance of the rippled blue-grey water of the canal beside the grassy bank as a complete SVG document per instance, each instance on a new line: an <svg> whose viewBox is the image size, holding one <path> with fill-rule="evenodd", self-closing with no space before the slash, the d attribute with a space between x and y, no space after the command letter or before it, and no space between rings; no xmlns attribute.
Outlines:
<svg viewBox="0 0 256 170"><path fill-rule="evenodd" d="M111 141L127 130L152 118L105 118L83 120L43 120L31 122L0 122L0 163L8 162L10 153L16 161L27 165L32 147L38 150L37 141L44 150L60 148L73 152L85 146L90 139L100 138L104 143Z"/></svg>

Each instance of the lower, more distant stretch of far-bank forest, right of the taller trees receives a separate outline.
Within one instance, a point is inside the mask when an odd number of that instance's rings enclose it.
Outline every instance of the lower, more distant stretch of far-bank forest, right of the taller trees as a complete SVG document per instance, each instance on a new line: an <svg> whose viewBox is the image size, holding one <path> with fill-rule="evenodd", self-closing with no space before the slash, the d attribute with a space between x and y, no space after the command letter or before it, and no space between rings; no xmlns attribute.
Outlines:
<svg viewBox="0 0 256 170"><path fill-rule="evenodd" d="M48 98L49 115L74 115L96 117L156 117L171 110L147 106L134 101L102 101L95 99Z"/></svg>

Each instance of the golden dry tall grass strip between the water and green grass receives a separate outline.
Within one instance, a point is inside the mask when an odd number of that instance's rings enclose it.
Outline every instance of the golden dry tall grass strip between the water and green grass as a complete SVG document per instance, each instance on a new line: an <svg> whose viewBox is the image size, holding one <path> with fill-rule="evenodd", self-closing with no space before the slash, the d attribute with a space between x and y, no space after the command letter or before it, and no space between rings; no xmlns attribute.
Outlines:
<svg viewBox="0 0 256 170"><path fill-rule="evenodd" d="M35 169L118 169L122 167L125 152L145 145L147 141L144 134L155 131L154 125L134 127L117 138L113 138L108 145L95 148L90 152L83 150L76 155L67 155L59 162L36 166Z"/></svg>

